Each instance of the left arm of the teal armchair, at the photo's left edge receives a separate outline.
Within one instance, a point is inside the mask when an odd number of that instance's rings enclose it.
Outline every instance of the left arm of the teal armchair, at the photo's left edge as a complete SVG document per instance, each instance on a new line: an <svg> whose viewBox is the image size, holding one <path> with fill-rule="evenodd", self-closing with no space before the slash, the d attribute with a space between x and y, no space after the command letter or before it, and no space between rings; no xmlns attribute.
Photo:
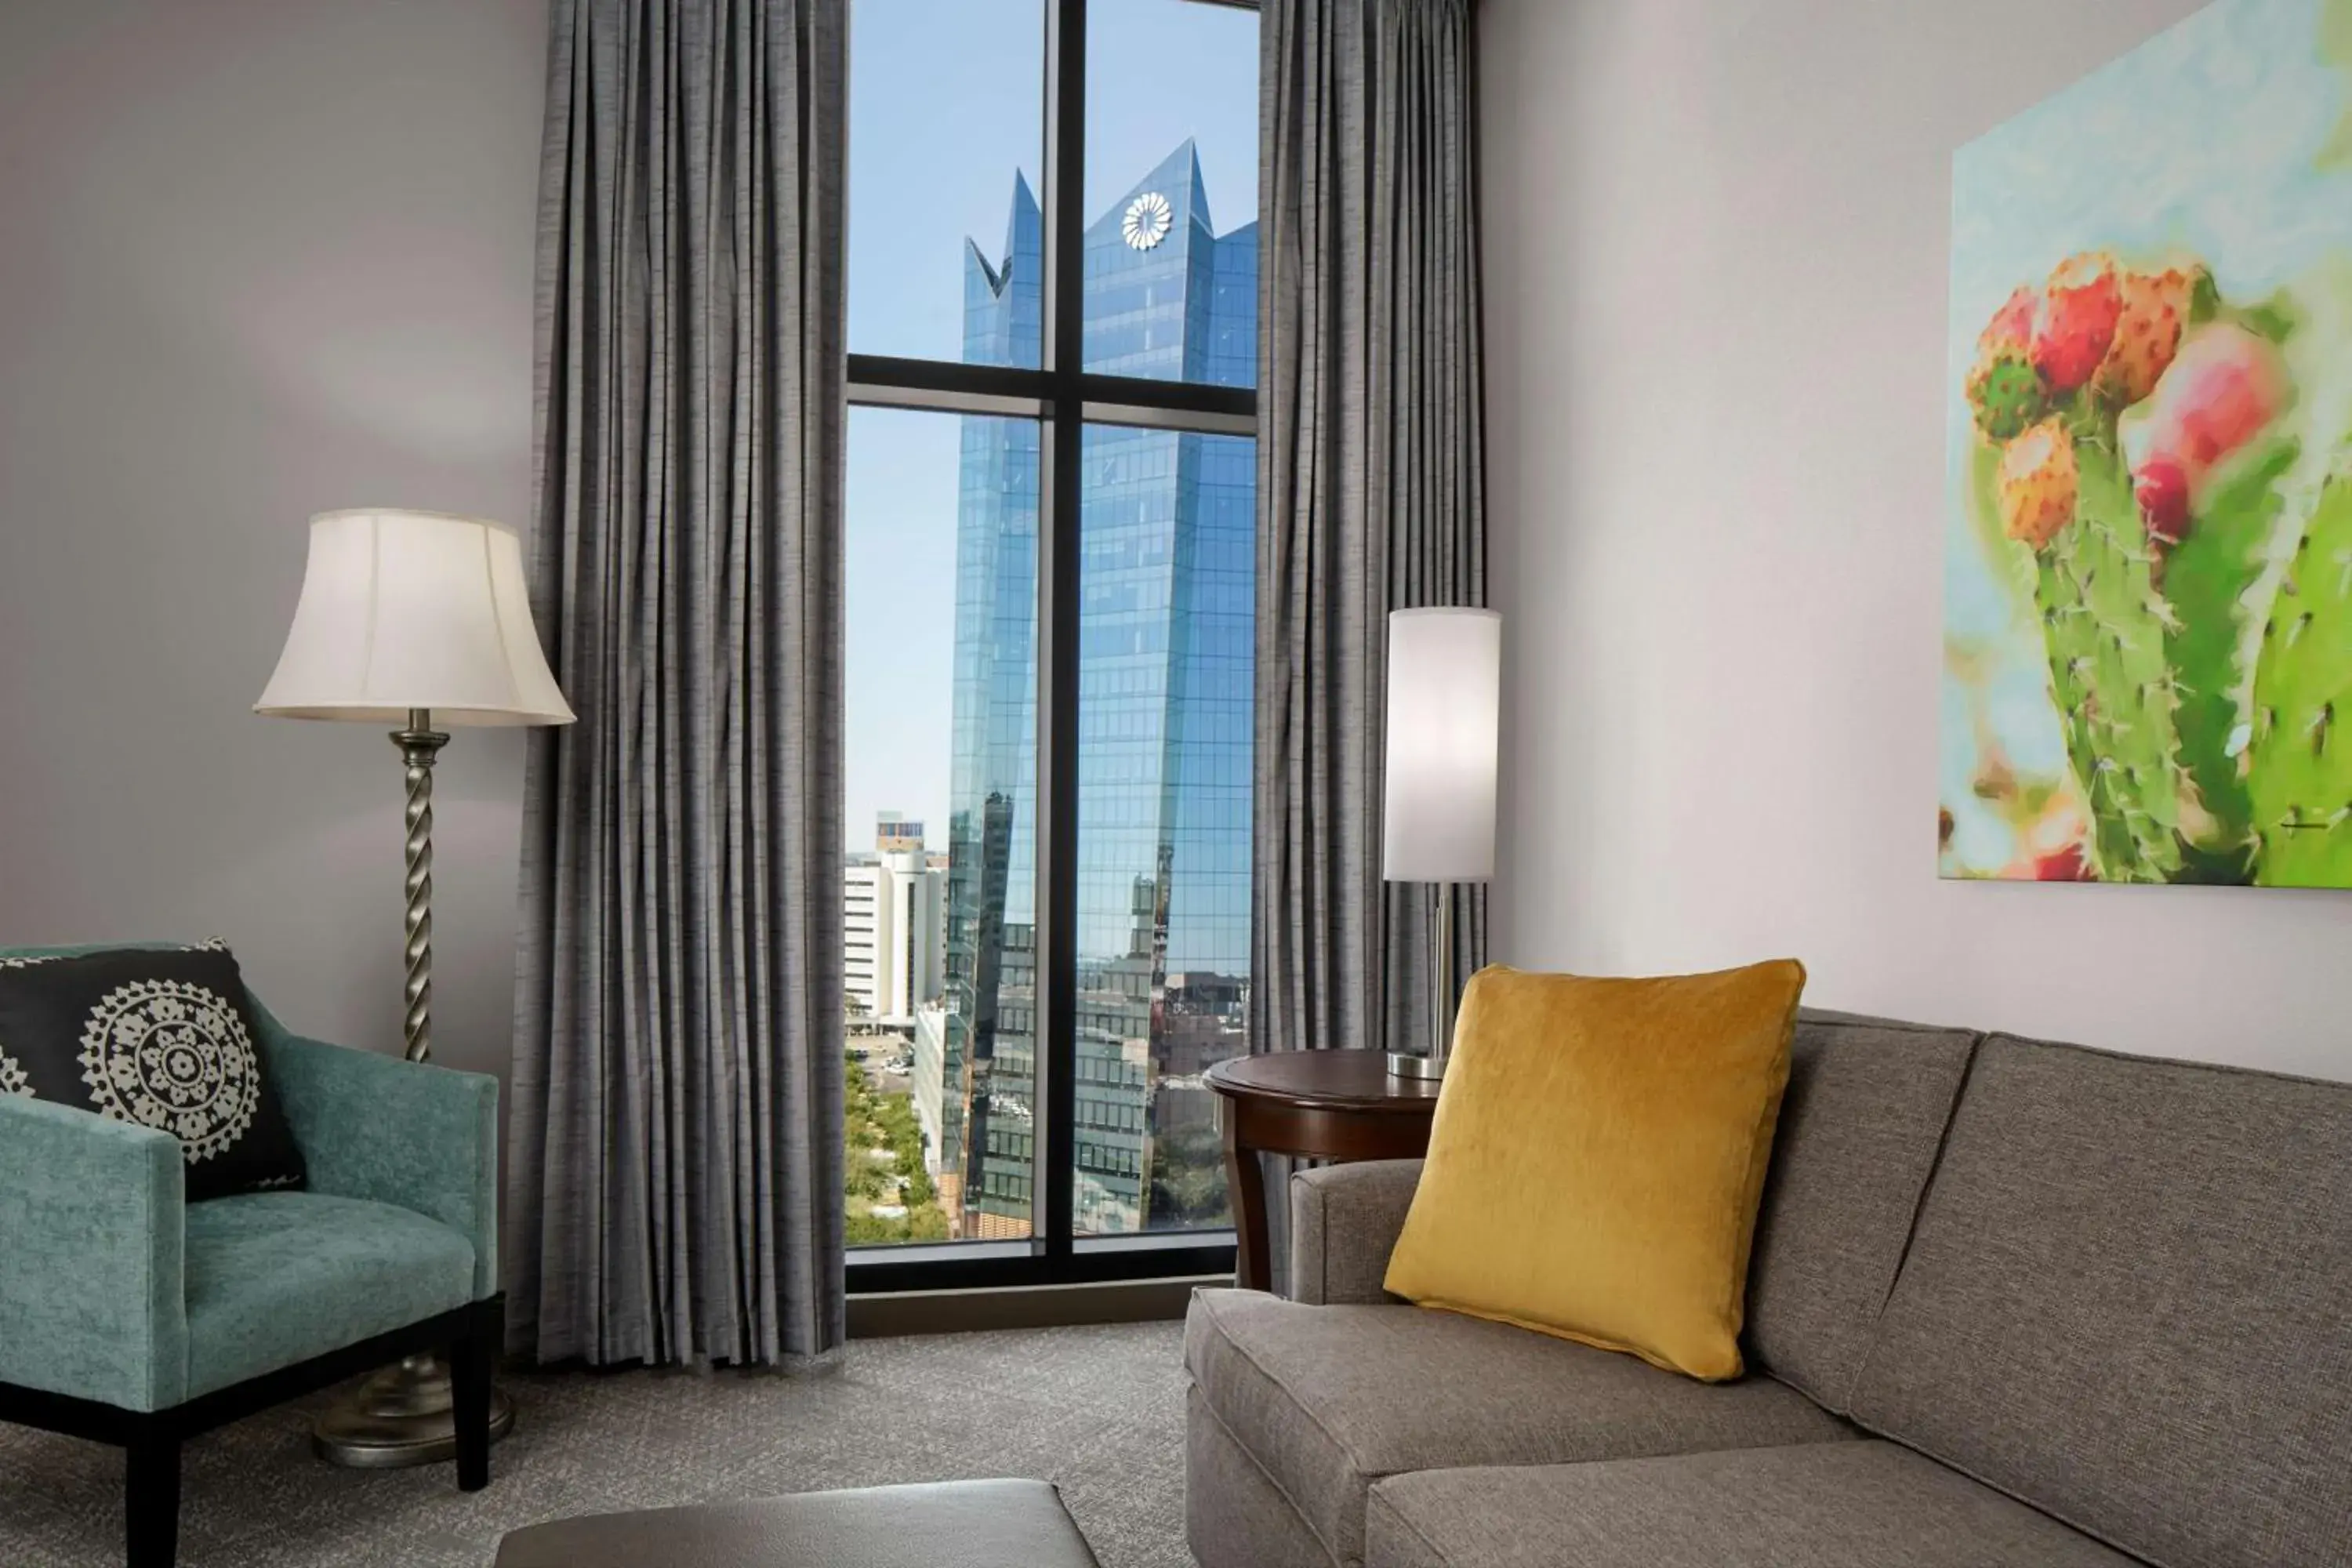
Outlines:
<svg viewBox="0 0 2352 1568"><path fill-rule="evenodd" d="M186 1396L186 1182L169 1133L0 1095L0 1382L122 1410Z"/></svg>

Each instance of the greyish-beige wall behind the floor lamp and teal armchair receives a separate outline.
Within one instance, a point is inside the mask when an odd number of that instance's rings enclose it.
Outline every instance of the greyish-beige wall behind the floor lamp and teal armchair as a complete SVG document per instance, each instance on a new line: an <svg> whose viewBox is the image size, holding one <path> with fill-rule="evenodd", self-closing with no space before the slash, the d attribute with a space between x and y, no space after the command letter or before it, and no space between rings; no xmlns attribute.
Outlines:
<svg viewBox="0 0 2352 1568"><path fill-rule="evenodd" d="M0 5L0 945L226 936L400 1039L400 764L254 717L315 510L529 508L543 0ZM503 1072L522 745L440 773L437 1034Z"/></svg>

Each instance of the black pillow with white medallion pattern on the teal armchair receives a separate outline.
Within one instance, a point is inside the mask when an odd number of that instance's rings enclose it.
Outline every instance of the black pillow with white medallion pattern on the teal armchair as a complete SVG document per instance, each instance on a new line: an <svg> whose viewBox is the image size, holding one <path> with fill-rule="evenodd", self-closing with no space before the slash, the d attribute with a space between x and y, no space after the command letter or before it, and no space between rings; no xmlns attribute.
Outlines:
<svg viewBox="0 0 2352 1568"><path fill-rule="evenodd" d="M221 943L0 959L0 1093L172 1133L188 1201L303 1185Z"/></svg>

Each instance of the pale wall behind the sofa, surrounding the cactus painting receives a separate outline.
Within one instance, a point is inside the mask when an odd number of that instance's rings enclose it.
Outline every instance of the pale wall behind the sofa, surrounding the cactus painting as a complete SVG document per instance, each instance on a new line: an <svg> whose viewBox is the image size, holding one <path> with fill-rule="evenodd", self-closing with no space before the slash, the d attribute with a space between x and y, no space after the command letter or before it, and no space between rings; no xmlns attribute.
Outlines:
<svg viewBox="0 0 2352 1568"><path fill-rule="evenodd" d="M1952 148L2190 0L1486 0L1496 957L2352 1077L2352 893L1936 882Z"/></svg>

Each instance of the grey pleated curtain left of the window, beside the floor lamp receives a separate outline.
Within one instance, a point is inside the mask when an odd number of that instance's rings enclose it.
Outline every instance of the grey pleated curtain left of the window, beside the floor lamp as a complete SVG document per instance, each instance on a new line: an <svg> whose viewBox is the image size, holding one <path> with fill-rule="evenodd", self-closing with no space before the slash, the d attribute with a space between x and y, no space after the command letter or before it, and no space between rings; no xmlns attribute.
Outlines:
<svg viewBox="0 0 2352 1568"><path fill-rule="evenodd" d="M510 1349L842 1340L844 0L555 0Z"/></svg>

